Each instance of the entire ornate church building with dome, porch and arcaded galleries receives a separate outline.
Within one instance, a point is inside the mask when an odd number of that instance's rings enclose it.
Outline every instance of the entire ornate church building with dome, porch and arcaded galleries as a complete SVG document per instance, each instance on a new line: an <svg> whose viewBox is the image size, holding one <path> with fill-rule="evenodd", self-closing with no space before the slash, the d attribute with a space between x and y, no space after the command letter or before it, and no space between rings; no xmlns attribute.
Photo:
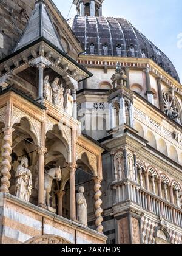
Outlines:
<svg viewBox="0 0 182 256"><path fill-rule="evenodd" d="M104 0L0 4L0 243L180 244L182 90Z"/></svg>

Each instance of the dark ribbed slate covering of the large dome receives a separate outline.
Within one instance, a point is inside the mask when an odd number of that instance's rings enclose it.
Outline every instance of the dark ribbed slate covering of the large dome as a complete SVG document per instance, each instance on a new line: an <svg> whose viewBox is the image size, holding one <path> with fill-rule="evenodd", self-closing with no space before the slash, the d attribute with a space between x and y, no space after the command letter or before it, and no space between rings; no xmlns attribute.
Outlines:
<svg viewBox="0 0 182 256"><path fill-rule="evenodd" d="M178 73L169 60L150 40L140 33L129 21L123 18L104 18L91 16L75 16L68 21L73 32L90 54L90 43L95 46L95 55L104 54L103 45L107 43L111 56L152 58L155 63L180 82ZM117 52L117 45L121 46L121 55ZM134 55L130 52L130 45L134 46Z"/></svg>

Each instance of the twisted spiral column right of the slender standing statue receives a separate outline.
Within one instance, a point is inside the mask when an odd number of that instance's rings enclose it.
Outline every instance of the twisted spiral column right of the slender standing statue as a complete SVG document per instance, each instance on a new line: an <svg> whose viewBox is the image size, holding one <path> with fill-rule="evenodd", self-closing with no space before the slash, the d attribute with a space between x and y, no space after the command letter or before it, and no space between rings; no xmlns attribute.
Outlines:
<svg viewBox="0 0 182 256"><path fill-rule="evenodd" d="M95 226L96 226L96 231L103 233L104 227L101 225L101 223L103 222L103 217L101 216L101 214L103 213L103 209L101 208L101 204L103 203L103 201L100 198L102 195L102 192L100 190L101 178L95 177L93 178L93 181L95 183L94 184L95 216L96 216Z"/></svg>

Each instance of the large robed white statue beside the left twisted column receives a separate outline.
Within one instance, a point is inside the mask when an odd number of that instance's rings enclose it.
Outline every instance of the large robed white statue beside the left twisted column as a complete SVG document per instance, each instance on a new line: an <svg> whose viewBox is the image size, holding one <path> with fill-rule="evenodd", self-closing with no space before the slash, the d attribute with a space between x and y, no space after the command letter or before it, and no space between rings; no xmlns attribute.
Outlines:
<svg viewBox="0 0 182 256"><path fill-rule="evenodd" d="M27 202L32 194L32 173L28 167L28 159L23 157L15 173L15 196Z"/></svg>

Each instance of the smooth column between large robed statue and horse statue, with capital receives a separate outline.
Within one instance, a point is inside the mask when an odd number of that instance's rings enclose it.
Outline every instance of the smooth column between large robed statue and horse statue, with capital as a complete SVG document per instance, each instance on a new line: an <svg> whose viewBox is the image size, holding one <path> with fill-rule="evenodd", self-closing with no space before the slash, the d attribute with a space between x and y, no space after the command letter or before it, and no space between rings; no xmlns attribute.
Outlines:
<svg viewBox="0 0 182 256"><path fill-rule="evenodd" d="M40 146L37 150L39 156L39 172L38 172L38 206L45 205L44 198L44 155L47 152L47 148Z"/></svg>

